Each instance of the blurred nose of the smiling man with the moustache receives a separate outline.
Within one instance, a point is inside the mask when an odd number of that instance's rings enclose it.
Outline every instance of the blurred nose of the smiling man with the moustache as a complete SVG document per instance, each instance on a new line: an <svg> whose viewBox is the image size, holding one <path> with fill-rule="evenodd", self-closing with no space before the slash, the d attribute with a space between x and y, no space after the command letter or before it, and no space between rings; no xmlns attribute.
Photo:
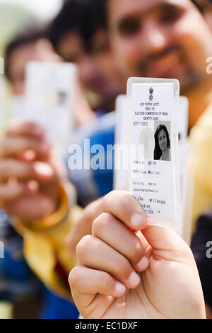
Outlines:
<svg viewBox="0 0 212 333"><path fill-rule="evenodd" d="M148 55L161 52L167 47L168 31L161 28L153 18L143 21L141 33L141 47Z"/></svg>

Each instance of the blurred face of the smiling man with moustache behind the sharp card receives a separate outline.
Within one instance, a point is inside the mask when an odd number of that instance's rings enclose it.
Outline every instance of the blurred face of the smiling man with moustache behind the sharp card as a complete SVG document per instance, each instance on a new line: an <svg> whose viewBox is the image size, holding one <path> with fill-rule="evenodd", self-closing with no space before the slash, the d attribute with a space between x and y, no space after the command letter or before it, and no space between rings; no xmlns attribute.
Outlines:
<svg viewBox="0 0 212 333"><path fill-rule="evenodd" d="M179 79L182 91L206 75L211 32L189 0L108 0L114 57L125 77Z"/></svg>

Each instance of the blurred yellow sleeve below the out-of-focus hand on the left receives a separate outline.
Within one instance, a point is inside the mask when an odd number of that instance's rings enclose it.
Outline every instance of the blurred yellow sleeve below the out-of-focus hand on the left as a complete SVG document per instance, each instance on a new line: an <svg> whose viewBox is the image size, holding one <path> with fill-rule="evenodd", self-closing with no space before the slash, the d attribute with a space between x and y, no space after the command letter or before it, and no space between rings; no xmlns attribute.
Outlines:
<svg viewBox="0 0 212 333"><path fill-rule="evenodd" d="M14 220L16 230L24 239L23 252L30 268L49 289L65 298L70 298L70 290L55 271L55 265L59 261L67 274L74 266L65 239L81 211L78 206L73 206L69 213L69 198L61 188L57 213L30 224Z"/></svg>

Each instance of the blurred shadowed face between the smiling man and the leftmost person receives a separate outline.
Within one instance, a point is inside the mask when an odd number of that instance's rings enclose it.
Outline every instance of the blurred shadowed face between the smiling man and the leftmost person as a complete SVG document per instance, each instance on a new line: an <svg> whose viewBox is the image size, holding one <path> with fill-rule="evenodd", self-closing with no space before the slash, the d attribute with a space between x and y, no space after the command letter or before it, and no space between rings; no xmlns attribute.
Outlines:
<svg viewBox="0 0 212 333"><path fill-rule="evenodd" d="M79 79L83 86L103 97L114 95L116 88L113 82L109 81L96 60L96 54L103 52L104 45L98 44L98 50L86 52L82 38L77 33L67 33L61 38L58 51L66 62L73 62L78 65ZM100 50L101 49L101 50ZM110 60L109 68L110 66Z"/></svg>

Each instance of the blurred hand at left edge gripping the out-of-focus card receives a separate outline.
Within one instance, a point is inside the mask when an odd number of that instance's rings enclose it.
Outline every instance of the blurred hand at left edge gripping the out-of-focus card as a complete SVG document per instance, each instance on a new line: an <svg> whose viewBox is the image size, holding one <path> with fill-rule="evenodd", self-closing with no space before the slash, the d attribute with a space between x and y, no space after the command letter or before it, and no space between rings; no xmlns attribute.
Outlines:
<svg viewBox="0 0 212 333"><path fill-rule="evenodd" d="M57 210L64 169L45 130L30 122L14 123L0 141L0 203L22 220L47 217Z"/></svg>

